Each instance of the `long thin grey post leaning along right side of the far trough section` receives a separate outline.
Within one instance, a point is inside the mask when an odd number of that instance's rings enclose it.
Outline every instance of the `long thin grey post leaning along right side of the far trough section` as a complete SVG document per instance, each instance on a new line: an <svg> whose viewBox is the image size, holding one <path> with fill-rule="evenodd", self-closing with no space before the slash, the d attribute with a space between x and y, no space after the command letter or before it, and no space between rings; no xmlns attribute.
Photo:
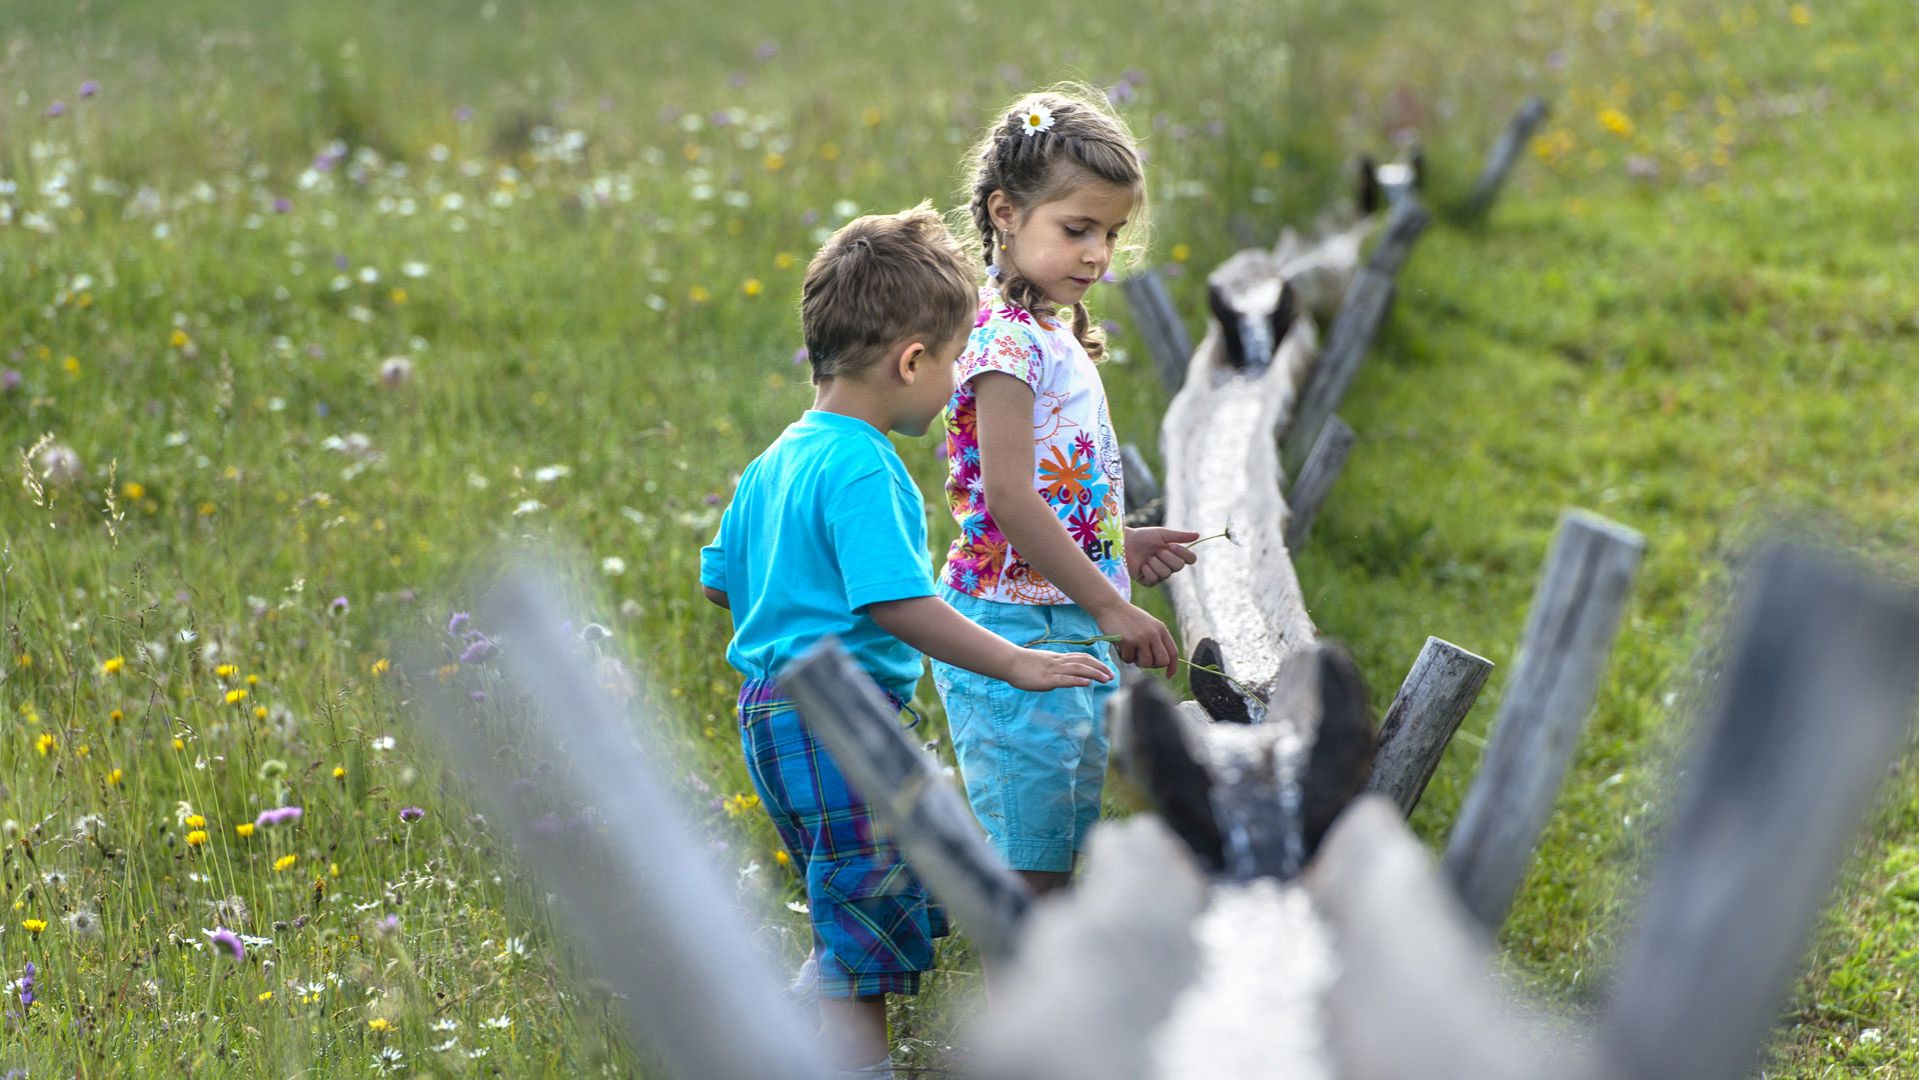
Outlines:
<svg viewBox="0 0 1919 1080"><path fill-rule="evenodd" d="M1307 382L1305 395L1299 401L1299 411L1293 414L1293 424L1286 432L1286 443L1280 453L1286 470L1297 472L1301 462L1305 462L1307 451L1318 441L1320 428L1339 409L1345 391L1353 386L1353 378L1359 376L1359 364L1366 359L1366 349L1372 347L1372 340L1380 334L1380 326L1386 324L1386 317L1393 309L1393 292L1397 288L1393 280L1399 276L1407 255L1412 253L1412 244L1430 221L1432 217L1420 207L1418 200L1393 205L1393 213L1386 223L1386 236L1372 251L1372 257L1366 259L1359 276L1353 278L1351 288L1345 290L1339 317L1334 318L1332 330L1326 332L1326 351L1320 353L1313 368L1313 378Z"/></svg>

